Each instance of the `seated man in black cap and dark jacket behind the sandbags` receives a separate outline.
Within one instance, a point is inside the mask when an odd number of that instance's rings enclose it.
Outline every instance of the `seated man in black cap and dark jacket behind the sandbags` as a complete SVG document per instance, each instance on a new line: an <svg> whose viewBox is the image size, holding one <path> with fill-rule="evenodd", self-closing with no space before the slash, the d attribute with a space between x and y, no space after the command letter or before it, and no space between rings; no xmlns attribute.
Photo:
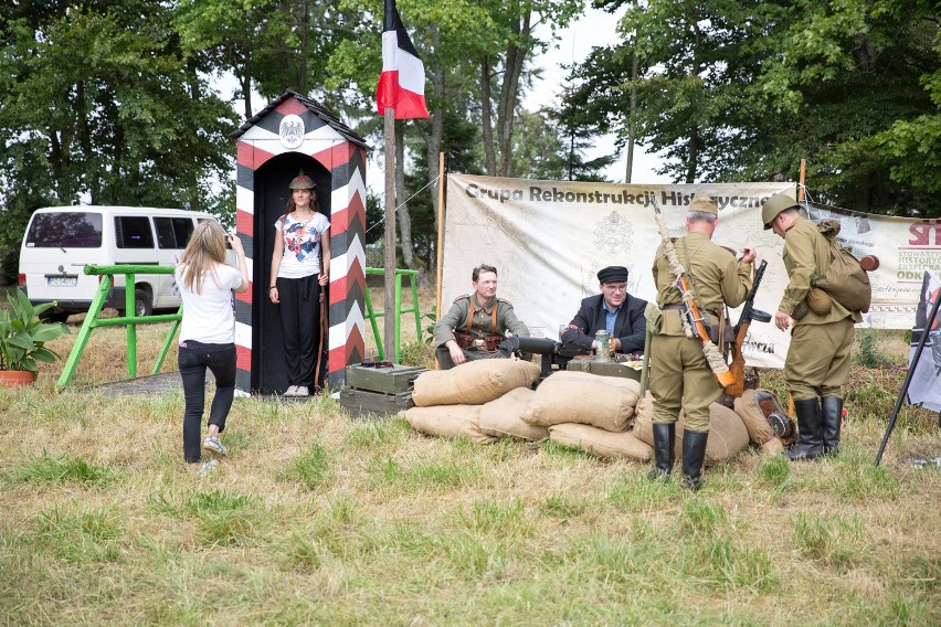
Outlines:
<svg viewBox="0 0 941 627"><path fill-rule="evenodd" d="M601 294L582 300L581 309L559 338L565 347L588 353L594 347L596 331L607 329L611 350L631 354L644 352L647 301L627 294L627 268L609 266L598 273Z"/></svg>

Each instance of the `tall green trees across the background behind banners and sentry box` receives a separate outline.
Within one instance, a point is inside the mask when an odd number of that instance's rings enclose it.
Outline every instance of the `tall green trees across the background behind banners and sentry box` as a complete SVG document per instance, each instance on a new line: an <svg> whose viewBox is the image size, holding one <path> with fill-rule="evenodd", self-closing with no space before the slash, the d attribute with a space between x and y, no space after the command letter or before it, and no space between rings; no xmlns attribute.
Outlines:
<svg viewBox="0 0 941 627"><path fill-rule="evenodd" d="M453 171L604 180L634 144L676 182L793 180L815 200L941 215L933 2L593 0L616 45L526 110L539 52L583 0L399 0L432 117L397 123L400 202ZM252 95L307 94L381 149L381 0L17 0L0 7L0 263L52 204L234 213L229 134ZM612 18L614 19L614 18ZM221 93L223 76L235 88ZM610 155L585 157L614 134ZM624 180L631 180L628 170ZM399 210L403 265L431 269L435 193ZM377 199L368 217L381 219ZM372 222L371 222L372 223ZM382 230L370 231L370 241Z"/></svg>

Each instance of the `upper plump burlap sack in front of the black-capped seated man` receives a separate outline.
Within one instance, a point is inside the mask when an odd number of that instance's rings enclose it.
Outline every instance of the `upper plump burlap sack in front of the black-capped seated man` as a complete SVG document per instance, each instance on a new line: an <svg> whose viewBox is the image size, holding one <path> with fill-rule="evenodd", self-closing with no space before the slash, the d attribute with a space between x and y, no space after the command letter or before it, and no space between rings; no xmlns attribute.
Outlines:
<svg viewBox="0 0 941 627"><path fill-rule="evenodd" d="M592 425L610 432L631 427L641 384L633 379L561 371L539 384L520 416L530 425Z"/></svg>

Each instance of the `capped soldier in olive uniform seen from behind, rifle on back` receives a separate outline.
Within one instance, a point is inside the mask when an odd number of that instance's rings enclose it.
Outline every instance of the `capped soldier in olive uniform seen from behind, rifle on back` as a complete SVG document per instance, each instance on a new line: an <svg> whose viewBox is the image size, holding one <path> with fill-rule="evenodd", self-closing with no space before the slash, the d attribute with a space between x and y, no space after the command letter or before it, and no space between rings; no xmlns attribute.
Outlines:
<svg viewBox="0 0 941 627"><path fill-rule="evenodd" d="M675 243L677 257L696 295L696 304L712 327L723 302L737 307L751 289L754 251L742 248L741 261L712 243L719 219L716 199L696 196L686 216L688 234ZM654 469L648 477L668 479L674 464L674 437L680 407L684 411L683 486L698 490L706 440L709 436L709 405L722 392L702 354L698 337L686 337L680 315L683 298L676 276L660 244L654 257L654 283L663 322L651 341L651 393L654 396Z"/></svg>

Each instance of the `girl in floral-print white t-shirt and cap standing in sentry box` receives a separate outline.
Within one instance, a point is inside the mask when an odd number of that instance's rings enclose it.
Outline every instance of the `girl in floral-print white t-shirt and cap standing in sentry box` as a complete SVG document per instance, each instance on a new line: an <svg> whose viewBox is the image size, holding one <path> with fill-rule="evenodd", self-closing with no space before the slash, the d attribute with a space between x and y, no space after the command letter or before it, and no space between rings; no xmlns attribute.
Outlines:
<svg viewBox="0 0 941 627"><path fill-rule="evenodd" d="M320 213L316 185L303 170L289 187L290 200L275 222L268 296L281 310L288 382L284 395L309 396L319 374L320 287L330 275L330 221Z"/></svg>

